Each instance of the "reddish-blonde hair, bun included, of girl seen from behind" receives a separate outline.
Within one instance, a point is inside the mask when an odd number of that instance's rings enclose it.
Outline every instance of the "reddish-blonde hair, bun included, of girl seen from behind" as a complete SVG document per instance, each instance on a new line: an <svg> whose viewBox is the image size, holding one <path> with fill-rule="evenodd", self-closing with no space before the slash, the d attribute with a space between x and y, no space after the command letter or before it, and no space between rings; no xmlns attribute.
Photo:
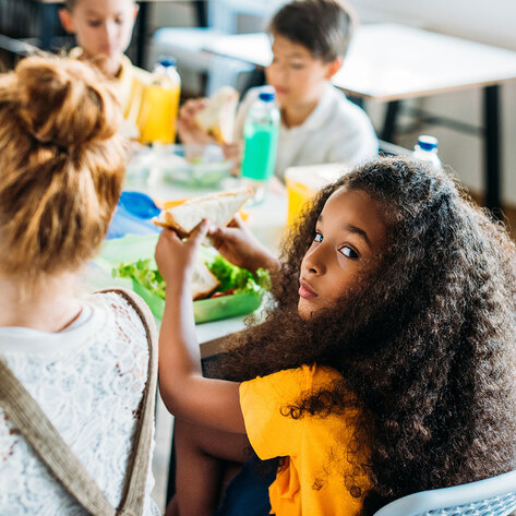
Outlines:
<svg viewBox="0 0 516 516"><path fill-rule="evenodd" d="M0 74L0 275L34 286L96 253L125 170L120 120L85 63L31 57Z"/></svg>

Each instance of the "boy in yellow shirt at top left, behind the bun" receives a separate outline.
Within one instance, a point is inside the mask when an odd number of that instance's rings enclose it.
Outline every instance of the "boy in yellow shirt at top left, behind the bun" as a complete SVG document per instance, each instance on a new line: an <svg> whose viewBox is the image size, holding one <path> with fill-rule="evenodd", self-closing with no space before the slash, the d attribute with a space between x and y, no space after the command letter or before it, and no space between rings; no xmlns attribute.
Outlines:
<svg viewBox="0 0 516 516"><path fill-rule="evenodd" d="M127 136L143 130L139 115L145 86L152 74L131 63L124 51L131 43L139 7L133 0L64 0L59 17L64 29L74 34L79 47L70 57L95 64L118 89Z"/></svg>

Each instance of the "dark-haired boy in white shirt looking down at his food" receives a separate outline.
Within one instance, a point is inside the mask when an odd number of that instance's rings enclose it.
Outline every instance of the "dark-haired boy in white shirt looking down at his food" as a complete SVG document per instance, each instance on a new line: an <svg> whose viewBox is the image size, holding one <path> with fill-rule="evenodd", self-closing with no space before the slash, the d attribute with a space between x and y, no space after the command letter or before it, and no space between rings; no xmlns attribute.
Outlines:
<svg viewBox="0 0 516 516"><path fill-rule="evenodd" d="M356 26L353 11L340 0L295 0L274 15L273 61L265 69L280 108L275 173L284 178L291 166L347 163L355 165L377 154L377 139L365 112L334 87L332 77L343 65ZM261 87L241 103L235 139ZM178 130L184 143L206 141L195 123L203 99L180 110ZM235 156L231 156L235 157Z"/></svg>

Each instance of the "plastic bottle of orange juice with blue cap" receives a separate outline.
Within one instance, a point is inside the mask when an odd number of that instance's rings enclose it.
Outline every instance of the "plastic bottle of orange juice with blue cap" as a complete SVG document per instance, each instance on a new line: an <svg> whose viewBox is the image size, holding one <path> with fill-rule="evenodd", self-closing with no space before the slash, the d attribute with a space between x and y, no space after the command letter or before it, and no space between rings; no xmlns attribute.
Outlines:
<svg viewBox="0 0 516 516"><path fill-rule="evenodd" d="M137 117L140 141L169 144L176 141L181 79L176 59L160 58L153 72L153 82L145 87Z"/></svg>

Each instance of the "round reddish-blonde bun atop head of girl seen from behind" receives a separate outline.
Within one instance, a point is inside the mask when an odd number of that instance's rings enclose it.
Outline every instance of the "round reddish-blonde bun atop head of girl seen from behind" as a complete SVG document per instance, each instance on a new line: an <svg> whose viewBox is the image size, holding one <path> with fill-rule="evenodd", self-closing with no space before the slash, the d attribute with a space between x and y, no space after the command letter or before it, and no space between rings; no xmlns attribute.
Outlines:
<svg viewBox="0 0 516 516"><path fill-rule="evenodd" d="M79 147L117 132L121 113L115 95L87 64L32 57L20 62L16 79L20 117L39 142Z"/></svg>

